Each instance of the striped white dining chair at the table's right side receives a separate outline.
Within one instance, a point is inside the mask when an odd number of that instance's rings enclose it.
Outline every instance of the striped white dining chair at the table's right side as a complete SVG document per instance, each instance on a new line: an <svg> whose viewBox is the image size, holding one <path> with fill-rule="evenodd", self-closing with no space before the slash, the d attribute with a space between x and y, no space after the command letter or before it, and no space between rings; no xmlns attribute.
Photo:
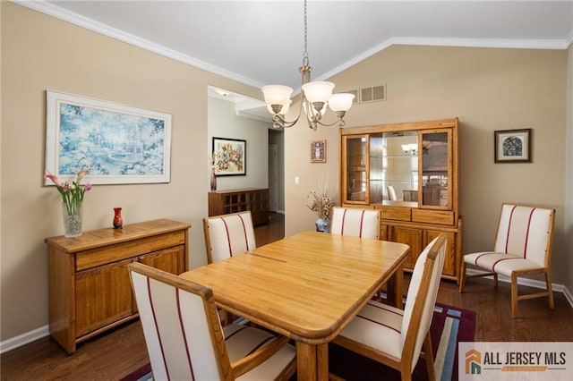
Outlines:
<svg viewBox="0 0 573 381"><path fill-rule="evenodd" d="M404 310L368 301L334 343L390 368L410 380L420 355L435 380L430 325L444 265L446 235L440 234L416 259ZM422 351L423 350L423 351Z"/></svg>

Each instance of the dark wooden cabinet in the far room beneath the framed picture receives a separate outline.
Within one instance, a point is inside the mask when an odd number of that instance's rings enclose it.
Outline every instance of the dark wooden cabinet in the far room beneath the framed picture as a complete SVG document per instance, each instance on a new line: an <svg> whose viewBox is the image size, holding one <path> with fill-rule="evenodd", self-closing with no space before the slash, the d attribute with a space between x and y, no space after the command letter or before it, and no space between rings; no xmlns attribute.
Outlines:
<svg viewBox="0 0 573 381"><path fill-rule="evenodd" d="M251 210L252 224L269 223L269 189L217 190L209 193L209 216Z"/></svg>

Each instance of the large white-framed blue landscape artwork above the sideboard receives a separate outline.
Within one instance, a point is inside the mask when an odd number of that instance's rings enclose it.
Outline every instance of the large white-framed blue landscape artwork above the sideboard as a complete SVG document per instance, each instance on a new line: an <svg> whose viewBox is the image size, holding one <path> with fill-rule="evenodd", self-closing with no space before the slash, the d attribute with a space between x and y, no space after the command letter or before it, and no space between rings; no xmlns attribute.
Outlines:
<svg viewBox="0 0 573 381"><path fill-rule="evenodd" d="M46 127L46 171L63 181L84 168L93 184L170 180L170 114L47 90Z"/></svg>

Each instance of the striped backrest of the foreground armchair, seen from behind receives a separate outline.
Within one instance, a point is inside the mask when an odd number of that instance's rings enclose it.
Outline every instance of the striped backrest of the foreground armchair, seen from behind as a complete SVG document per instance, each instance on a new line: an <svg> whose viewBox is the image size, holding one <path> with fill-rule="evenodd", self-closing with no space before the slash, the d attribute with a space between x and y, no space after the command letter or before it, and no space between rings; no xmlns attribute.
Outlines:
<svg viewBox="0 0 573 381"><path fill-rule="evenodd" d="M153 378L228 379L232 370L210 288L137 262L128 268Z"/></svg>

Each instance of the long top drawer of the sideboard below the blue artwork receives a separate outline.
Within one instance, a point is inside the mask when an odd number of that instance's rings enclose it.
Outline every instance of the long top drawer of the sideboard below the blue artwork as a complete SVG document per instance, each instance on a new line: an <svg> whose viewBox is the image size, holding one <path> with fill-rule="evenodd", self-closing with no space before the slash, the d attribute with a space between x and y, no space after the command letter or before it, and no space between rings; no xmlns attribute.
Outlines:
<svg viewBox="0 0 573 381"><path fill-rule="evenodd" d="M104 248L81 251L76 254L76 271L136 257L151 251L167 249L175 245L183 245L184 242L185 233L179 231L141 238L137 241L117 243Z"/></svg>

